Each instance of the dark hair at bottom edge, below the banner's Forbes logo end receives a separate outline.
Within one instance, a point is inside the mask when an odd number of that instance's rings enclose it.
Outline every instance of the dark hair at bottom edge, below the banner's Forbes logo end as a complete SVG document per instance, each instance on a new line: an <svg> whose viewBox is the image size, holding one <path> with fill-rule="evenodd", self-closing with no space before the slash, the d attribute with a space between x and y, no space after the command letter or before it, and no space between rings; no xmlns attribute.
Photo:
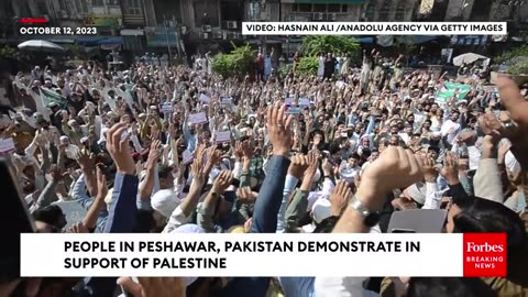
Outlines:
<svg viewBox="0 0 528 297"><path fill-rule="evenodd" d="M413 277L406 297L498 297L481 278Z"/></svg>

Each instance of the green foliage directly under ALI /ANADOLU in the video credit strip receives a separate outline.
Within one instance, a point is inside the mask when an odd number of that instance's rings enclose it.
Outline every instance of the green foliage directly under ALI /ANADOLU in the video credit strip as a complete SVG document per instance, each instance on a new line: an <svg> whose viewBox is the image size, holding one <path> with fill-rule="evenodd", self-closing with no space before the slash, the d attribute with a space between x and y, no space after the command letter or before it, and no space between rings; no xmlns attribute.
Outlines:
<svg viewBox="0 0 528 297"><path fill-rule="evenodd" d="M360 51L360 44L350 36L310 35L302 40L302 52L308 56L319 56L321 53L348 53L354 57Z"/></svg>

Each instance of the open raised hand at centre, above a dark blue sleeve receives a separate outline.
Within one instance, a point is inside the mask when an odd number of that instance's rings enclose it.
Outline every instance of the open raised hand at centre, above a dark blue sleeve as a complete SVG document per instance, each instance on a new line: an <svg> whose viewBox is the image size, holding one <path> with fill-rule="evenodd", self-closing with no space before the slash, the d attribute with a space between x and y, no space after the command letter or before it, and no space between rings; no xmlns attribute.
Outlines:
<svg viewBox="0 0 528 297"><path fill-rule="evenodd" d="M273 154L289 156L293 143L290 129L293 117L284 113L284 106L275 103L267 110L267 131L273 145Z"/></svg>

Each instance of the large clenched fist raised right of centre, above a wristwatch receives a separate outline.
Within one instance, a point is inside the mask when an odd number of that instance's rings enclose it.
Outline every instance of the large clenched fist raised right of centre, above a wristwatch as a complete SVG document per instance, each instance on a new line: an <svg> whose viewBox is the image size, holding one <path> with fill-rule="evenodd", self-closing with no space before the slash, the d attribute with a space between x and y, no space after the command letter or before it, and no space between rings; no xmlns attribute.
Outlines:
<svg viewBox="0 0 528 297"><path fill-rule="evenodd" d="M371 210L380 210L388 193L424 178L421 161L410 151L389 146L361 176L356 196Z"/></svg>

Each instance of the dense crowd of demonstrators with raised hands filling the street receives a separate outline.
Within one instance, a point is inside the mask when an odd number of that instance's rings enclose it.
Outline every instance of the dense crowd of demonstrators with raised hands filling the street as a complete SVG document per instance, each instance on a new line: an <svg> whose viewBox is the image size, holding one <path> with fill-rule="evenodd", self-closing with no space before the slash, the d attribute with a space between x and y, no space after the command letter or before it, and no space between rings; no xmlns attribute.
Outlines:
<svg viewBox="0 0 528 297"><path fill-rule="evenodd" d="M87 276L12 279L0 296L528 296L526 89L470 78L440 102L450 79L403 58L265 82L204 65L35 68L0 132L38 232L389 233L397 211L443 209L443 232L507 233L507 277ZM86 216L65 230L57 201Z"/></svg>

